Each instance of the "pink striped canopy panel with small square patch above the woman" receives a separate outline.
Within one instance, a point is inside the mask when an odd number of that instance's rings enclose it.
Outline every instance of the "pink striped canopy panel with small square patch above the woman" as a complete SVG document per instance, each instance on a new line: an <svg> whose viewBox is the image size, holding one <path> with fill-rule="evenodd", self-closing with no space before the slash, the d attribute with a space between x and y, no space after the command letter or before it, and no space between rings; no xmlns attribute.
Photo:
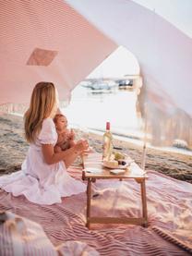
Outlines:
<svg viewBox="0 0 192 256"><path fill-rule="evenodd" d="M62 0L1 1L0 104L29 102L40 80L67 99L116 47Z"/></svg>

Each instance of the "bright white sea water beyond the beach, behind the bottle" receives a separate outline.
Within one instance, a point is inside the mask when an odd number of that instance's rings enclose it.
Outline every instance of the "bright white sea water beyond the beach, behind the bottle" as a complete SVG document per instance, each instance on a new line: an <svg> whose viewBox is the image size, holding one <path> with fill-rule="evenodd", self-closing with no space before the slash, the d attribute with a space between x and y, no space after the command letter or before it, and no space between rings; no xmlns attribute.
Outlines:
<svg viewBox="0 0 192 256"><path fill-rule="evenodd" d="M142 120L138 118L135 90L93 91L78 85L72 91L71 101L62 112L71 128L103 134L106 121L111 123L114 138L143 144ZM150 146L150 145L149 145ZM150 146L152 147L152 146ZM192 155L191 151L175 147L159 148L162 151L181 152Z"/></svg>

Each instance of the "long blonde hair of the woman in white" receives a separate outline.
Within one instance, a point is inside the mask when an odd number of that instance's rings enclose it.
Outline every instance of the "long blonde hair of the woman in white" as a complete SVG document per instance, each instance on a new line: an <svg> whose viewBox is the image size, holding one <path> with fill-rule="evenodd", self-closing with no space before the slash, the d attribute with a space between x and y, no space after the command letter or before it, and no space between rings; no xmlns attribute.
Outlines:
<svg viewBox="0 0 192 256"><path fill-rule="evenodd" d="M39 82L32 91L30 107L24 116L25 138L34 142L41 131L44 118L54 115L57 97L52 82Z"/></svg>

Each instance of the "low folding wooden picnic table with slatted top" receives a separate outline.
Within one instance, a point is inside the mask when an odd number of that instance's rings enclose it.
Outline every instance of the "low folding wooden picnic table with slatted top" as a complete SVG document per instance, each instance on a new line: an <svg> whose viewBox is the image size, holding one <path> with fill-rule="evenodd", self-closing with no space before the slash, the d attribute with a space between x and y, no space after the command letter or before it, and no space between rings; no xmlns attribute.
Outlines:
<svg viewBox="0 0 192 256"><path fill-rule="evenodd" d="M94 170L101 170L101 172L94 172ZM128 217L98 217L90 216L91 207L91 182L95 182L96 179L108 179L108 178L118 178L128 179L134 178L140 184L141 191L141 201L142 201L142 216L136 218ZM83 156L83 172L82 179L87 180L87 224L86 226L90 228L90 224L135 224L148 226L148 211L147 211L147 200L146 200L146 187L145 180L147 178L146 173L133 162L128 166L125 174L114 175L110 173L110 169L102 166L102 154L100 153L90 153Z"/></svg>

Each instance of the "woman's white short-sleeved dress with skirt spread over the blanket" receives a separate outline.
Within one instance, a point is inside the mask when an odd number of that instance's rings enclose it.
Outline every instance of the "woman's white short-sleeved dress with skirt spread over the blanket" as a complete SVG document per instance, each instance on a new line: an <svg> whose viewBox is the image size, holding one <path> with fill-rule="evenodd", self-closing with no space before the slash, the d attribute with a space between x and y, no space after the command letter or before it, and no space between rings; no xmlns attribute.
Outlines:
<svg viewBox="0 0 192 256"><path fill-rule="evenodd" d="M42 122L42 130L37 140L30 144L21 170L0 177L0 188L14 196L24 195L29 201L39 204L61 202L62 197L84 192L86 185L68 175L63 161L53 165L44 162L42 144L55 145L56 141L54 121L46 118Z"/></svg>

